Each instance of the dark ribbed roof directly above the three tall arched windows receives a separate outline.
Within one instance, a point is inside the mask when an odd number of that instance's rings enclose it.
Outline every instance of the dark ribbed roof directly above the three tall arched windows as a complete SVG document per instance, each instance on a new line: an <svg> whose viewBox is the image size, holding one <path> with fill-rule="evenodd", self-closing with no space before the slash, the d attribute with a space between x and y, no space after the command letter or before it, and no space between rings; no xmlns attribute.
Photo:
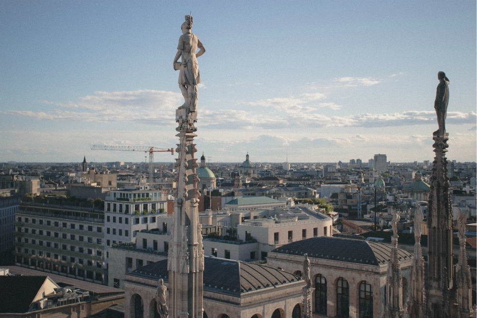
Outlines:
<svg viewBox="0 0 477 318"><path fill-rule="evenodd" d="M282 245L272 252L339 262L379 266L391 259L391 245L381 242L351 240L337 237L314 237ZM399 259L410 260L412 253L398 248Z"/></svg>

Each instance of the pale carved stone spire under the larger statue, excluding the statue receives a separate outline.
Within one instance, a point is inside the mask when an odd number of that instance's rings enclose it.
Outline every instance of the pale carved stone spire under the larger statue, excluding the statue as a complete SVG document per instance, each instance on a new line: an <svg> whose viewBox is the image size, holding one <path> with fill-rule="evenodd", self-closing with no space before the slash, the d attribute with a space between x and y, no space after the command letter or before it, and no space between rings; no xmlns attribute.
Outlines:
<svg viewBox="0 0 477 318"><path fill-rule="evenodd" d="M187 113L186 109L176 111L179 127L179 144L176 159L175 208L167 269L169 271L169 316L172 318L202 318L203 313L203 250L201 225L198 221L197 189L199 178L193 143L197 129L197 112Z"/></svg>

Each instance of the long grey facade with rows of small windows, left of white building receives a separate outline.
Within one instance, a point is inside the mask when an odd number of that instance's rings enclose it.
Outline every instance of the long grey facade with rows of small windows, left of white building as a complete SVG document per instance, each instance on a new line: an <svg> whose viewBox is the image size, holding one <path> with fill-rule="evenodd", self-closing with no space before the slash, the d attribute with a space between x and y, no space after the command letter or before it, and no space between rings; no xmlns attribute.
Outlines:
<svg viewBox="0 0 477 318"><path fill-rule="evenodd" d="M21 203L13 224L15 265L107 283L102 211Z"/></svg>

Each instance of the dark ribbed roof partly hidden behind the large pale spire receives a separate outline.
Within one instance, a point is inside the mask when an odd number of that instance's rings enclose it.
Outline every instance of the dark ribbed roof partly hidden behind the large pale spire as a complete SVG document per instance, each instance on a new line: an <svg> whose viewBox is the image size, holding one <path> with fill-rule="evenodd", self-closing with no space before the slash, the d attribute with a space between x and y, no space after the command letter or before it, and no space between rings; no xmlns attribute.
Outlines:
<svg viewBox="0 0 477 318"><path fill-rule="evenodd" d="M168 281L167 260L143 266L127 275ZM264 265L215 257L204 258L203 288L212 292L240 296L298 280L301 280L299 276Z"/></svg>

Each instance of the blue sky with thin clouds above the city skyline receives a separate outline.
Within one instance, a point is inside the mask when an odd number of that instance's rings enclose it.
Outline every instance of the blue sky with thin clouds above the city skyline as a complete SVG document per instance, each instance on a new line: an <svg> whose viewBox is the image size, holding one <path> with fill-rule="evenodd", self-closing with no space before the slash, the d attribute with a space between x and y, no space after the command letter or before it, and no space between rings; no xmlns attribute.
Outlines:
<svg viewBox="0 0 477 318"><path fill-rule="evenodd" d="M0 0L0 162L139 162L90 146L175 146L189 11L207 49L196 143L211 162L432 160L438 71L448 157L476 161L475 0Z"/></svg>

